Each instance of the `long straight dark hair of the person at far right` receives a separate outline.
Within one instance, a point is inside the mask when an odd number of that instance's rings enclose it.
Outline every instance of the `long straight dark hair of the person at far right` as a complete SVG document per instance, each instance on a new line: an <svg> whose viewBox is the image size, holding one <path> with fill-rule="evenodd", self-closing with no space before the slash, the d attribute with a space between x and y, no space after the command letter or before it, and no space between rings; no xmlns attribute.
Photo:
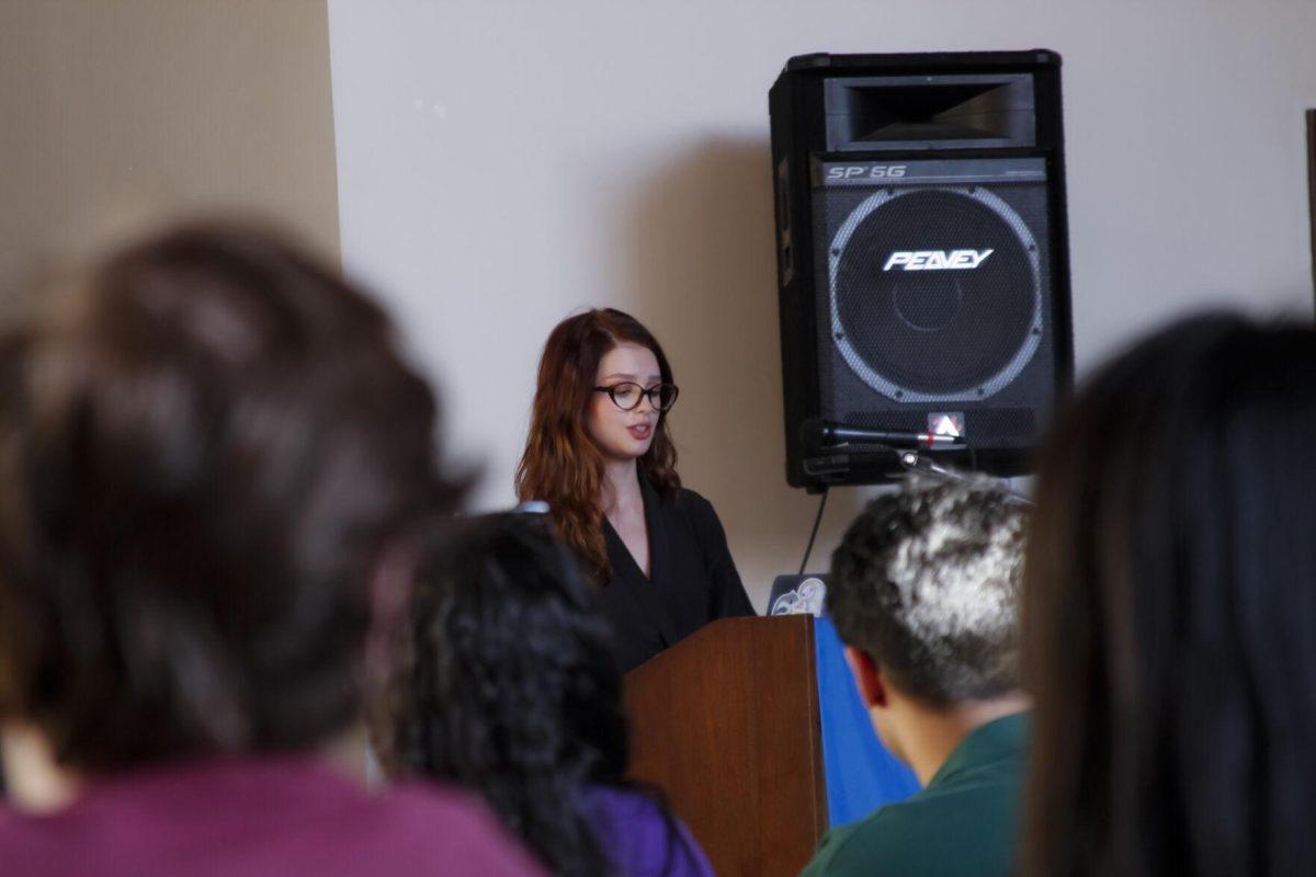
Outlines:
<svg viewBox="0 0 1316 877"><path fill-rule="evenodd" d="M1040 458L1025 873L1316 873L1316 333L1177 323Z"/></svg>

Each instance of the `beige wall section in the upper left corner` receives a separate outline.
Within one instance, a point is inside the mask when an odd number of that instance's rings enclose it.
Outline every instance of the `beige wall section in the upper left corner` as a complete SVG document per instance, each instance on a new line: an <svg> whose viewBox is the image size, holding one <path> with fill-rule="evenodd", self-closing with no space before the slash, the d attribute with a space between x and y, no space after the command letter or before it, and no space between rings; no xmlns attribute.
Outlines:
<svg viewBox="0 0 1316 877"><path fill-rule="evenodd" d="M324 0L0 0L0 318L143 222L242 210L337 258Z"/></svg>

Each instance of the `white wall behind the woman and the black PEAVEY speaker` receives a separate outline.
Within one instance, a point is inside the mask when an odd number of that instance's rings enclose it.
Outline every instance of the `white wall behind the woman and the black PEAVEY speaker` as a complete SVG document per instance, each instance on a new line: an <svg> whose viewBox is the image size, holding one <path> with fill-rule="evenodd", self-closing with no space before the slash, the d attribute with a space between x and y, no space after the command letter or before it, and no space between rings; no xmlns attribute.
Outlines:
<svg viewBox="0 0 1316 877"><path fill-rule="evenodd" d="M1184 309L1311 310L1311 0L329 0L342 252L512 501L534 367L587 304L674 362L682 476L762 607L816 498L784 481L767 88L809 51L1065 57L1079 366ZM862 492L840 490L816 561ZM816 550L817 551L817 550Z"/></svg>

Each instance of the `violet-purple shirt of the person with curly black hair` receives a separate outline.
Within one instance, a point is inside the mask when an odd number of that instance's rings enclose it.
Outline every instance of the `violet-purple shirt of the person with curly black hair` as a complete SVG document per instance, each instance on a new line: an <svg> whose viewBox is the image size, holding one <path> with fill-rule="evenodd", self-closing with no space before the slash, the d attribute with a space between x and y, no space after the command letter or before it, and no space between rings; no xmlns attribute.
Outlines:
<svg viewBox="0 0 1316 877"><path fill-rule="evenodd" d="M649 795L592 786L583 810L622 877L713 877L690 830Z"/></svg>

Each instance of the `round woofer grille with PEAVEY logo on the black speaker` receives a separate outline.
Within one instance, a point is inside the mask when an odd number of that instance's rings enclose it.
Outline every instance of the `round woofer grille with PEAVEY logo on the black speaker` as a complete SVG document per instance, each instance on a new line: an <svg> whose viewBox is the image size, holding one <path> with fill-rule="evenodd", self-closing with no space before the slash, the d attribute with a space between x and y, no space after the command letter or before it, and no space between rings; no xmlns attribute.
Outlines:
<svg viewBox="0 0 1316 877"><path fill-rule="evenodd" d="M907 402L987 398L1033 358L1044 331L1037 243L995 193L888 188L832 220L833 339L874 391Z"/></svg>

